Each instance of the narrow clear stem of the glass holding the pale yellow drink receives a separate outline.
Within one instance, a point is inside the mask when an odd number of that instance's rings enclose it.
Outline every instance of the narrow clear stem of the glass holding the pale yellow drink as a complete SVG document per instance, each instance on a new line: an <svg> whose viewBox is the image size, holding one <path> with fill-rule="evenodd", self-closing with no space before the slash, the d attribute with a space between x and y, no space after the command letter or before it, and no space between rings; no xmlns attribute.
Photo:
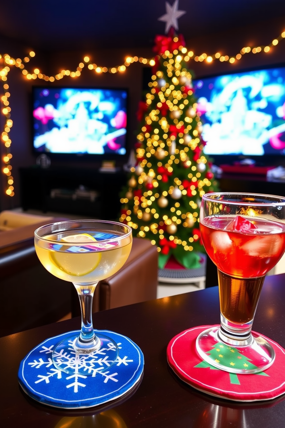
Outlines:
<svg viewBox="0 0 285 428"><path fill-rule="evenodd" d="M86 346L90 342L94 342L95 333L92 323L92 303L94 291L98 282L91 285L79 285L73 283L78 293L81 307L81 332L79 342Z"/></svg>

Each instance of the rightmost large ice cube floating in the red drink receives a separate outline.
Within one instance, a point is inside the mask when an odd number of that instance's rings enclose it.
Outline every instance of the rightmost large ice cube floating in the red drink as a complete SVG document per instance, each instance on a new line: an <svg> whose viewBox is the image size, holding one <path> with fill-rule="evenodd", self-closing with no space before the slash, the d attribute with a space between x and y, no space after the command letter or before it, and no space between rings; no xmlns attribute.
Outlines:
<svg viewBox="0 0 285 428"><path fill-rule="evenodd" d="M242 245L241 250L252 257L273 257L279 256L282 245L283 240L279 235L259 235Z"/></svg>

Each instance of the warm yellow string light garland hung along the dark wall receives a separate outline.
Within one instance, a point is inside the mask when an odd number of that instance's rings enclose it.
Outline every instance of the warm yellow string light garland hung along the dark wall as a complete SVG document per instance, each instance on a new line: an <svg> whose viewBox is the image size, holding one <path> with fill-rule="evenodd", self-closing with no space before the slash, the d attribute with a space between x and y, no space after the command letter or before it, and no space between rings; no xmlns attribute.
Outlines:
<svg viewBox="0 0 285 428"><path fill-rule="evenodd" d="M176 38L177 39L177 38ZM255 46L251 48L250 46L246 46L241 49L239 53L235 56L222 55L220 52L216 52L214 54L202 53L200 55L195 55L194 51L188 50L186 47L179 47L179 51L183 55L183 59L185 62L189 62L190 60L194 60L196 62L205 62L207 64L211 64L213 61L218 60L220 62L229 62L230 64L239 61L243 55L247 53L268 53L272 50L273 47L276 47L278 43L285 39L285 31L283 31L276 39L273 39L266 46ZM175 42L175 38L173 39ZM176 42L178 39L176 40ZM9 136L10 130L13 126L13 121L11 119L11 107L9 106L9 84L8 84L8 74L12 67L17 67L22 71L23 76L27 80L36 80L41 79L46 82L54 82L56 80L61 80L64 77L78 78L81 75L82 69L87 66L88 70L94 72L95 75L100 75L102 73L123 73L126 71L126 68L129 67L134 62L141 62L145 65L153 66L155 65L155 59L147 59L139 56L127 56L123 64L118 65L116 67L106 67L93 63L89 56L84 56L83 62L79 62L78 66L75 70L61 70L59 73L54 76L48 76L47 74L41 73L39 68L34 68L32 71L27 69L27 64L30 62L30 59L35 57L35 52L30 51L28 56L25 56L24 59L20 58L12 58L9 54L0 54L0 79L3 85L3 94L1 95L1 113L5 117L5 123L3 127L3 131L1 132L1 141L4 145L4 155L2 157L2 172L6 175L7 178L7 187L6 187L6 195L14 196L14 179L12 176L12 165L11 165L11 138Z"/></svg>

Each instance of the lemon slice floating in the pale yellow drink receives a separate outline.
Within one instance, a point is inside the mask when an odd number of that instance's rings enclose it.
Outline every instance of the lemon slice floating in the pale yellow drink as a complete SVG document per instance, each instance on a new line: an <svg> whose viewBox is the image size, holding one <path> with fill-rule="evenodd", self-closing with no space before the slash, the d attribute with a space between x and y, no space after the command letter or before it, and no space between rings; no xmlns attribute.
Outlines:
<svg viewBox="0 0 285 428"><path fill-rule="evenodd" d="M67 243L78 244L80 242L96 242L96 239L88 233L80 233L77 235L69 235L62 238L61 241ZM85 276L93 272L101 261L102 254L99 252L85 252L84 247L78 252L52 252L50 259L57 268L71 276Z"/></svg>

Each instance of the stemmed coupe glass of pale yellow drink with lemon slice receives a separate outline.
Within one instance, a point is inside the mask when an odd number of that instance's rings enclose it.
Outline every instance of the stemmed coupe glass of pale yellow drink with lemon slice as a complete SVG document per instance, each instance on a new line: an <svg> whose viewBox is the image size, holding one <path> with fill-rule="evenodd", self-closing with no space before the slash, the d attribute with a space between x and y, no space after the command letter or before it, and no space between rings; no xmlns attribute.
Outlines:
<svg viewBox="0 0 285 428"><path fill-rule="evenodd" d="M72 220L35 230L35 251L40 262L54 276L73 283L81 306L80 335L73 332L54 348L56 368L94 375L94 367L104 371L115 363L118 346L99 331L95 334L92 302L98 281L123 266L131 247L132 229L123 223Z"/></svg>

